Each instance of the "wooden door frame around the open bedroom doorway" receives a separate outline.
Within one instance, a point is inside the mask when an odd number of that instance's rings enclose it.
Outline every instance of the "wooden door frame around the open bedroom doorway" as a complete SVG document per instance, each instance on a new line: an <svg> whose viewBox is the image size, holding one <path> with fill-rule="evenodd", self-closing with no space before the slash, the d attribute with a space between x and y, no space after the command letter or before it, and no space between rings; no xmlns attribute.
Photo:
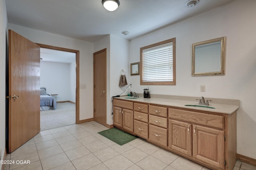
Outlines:
<svg viewBox="0 0 256 170"><path fill-rule="evenodd" d="M40 48L76 53L76 124L79 124L79 51L73 49L66 49L62 47L56 47L52 45L45 45L39 43L36 44L39 45Z"/></svg>

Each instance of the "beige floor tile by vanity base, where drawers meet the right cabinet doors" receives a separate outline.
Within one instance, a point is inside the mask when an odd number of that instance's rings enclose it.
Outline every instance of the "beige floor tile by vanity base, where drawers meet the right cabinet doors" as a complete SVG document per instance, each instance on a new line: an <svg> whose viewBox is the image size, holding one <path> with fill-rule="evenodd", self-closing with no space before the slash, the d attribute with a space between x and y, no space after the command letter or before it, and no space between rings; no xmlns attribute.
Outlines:
<svg viewBox="0 0 256 170"><path fill-rule="evenodd" d="M169 152L169 151L166 151L163 149L157 150L156 152L151 154L151 156L153 156L154 158L156 158L158 160L161 160L162 162L164 162L168 165L179 157L178 155L173 154L172 152Z"/></svg>

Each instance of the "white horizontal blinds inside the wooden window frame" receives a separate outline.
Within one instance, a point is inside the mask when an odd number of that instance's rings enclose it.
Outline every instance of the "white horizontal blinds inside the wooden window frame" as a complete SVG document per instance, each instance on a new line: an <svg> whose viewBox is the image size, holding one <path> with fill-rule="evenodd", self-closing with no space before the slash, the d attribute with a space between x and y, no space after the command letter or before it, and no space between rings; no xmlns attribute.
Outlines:
<svg viewBox="0 0 256 170"><path fill-rule="evenodd" d="M142 50L142 82L173 81L173 42Z"/></svg>

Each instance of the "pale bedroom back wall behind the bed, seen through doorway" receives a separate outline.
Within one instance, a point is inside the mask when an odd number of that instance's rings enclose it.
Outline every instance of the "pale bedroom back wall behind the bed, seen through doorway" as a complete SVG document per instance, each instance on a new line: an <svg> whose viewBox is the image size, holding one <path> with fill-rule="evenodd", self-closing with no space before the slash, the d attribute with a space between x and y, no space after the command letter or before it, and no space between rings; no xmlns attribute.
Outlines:
<svg viewBox="0 0 256 170"><path fill-rule="evenodd" d="M40 87L47 94L58 94L58 102L69 101L70 82L70 64L40 61Z"/></svg>

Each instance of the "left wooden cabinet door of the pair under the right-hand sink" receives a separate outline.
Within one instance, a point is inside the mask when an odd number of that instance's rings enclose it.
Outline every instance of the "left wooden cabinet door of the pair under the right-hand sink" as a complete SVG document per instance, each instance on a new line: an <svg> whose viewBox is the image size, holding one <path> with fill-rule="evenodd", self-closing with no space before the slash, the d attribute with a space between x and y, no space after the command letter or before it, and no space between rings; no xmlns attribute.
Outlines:
<svg viewBox="0 0 256 170"><path fill-rule="evenodd" d="M192 156L192 125L169 119L169 148Z"/></svg>

